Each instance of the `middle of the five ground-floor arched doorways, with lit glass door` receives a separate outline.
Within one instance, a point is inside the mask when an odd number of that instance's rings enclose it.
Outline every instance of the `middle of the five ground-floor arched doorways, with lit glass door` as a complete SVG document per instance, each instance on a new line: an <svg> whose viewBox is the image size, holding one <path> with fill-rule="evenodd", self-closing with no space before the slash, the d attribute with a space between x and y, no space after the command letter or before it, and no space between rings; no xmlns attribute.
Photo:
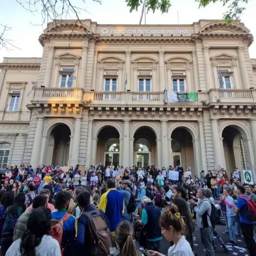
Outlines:
<svg viewBox="0 0 256 256"><path fill-rule="evenodd" d="M134 134L134 165L147 168L157 162L156 135L148 127L139 128Z"/></svg>

